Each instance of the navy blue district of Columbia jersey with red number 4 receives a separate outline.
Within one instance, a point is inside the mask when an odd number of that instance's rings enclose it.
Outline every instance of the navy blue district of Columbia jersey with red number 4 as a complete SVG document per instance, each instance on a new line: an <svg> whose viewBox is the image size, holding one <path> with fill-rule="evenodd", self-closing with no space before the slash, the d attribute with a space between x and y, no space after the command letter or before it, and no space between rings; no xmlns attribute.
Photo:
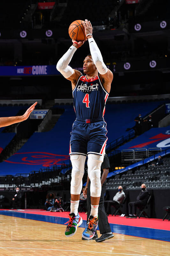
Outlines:
<svg viewBox="0 0 170 256"><path fill-rule="evenodd" d="M87 79L81 75L73 90L73 103L76 117L95 119L102 118L108 92L104 89L100 77Z"/></svg>

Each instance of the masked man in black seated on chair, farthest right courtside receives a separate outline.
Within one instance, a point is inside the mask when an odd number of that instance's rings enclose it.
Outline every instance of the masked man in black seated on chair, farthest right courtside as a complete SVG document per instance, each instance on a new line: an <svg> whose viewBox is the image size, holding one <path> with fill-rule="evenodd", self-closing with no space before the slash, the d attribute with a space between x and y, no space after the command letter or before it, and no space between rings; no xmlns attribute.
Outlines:
<svg viewBox="0 0 170 256"><path fill-rule="evenodd" d="M137 218L137 206L144 206L149 198L149 193L146 190L146 185L142 184L141 185L142 190L140 191L139 195L137 196L137 201L136 202L130 202L128 204L129 207L129 216L126 218Z"/></svg>

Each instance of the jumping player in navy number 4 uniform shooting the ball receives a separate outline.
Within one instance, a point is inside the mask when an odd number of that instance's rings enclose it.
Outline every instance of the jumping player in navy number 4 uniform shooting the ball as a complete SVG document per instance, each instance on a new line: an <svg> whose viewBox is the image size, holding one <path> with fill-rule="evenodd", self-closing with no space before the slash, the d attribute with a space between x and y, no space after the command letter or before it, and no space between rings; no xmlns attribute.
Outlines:
<svg viewBox="0 0 170 256"><path fill-rule="evenodd" d="M91 212L82 237L91 239L98 226L98 207L101 194L100 167L103 162L106 147L106 122L103 119L105 104L108 98L112 72L107 69L101 52L92 36L92 25L85 20L85 35L88 38L90 52L84 59L83 70L86 76L69 66L70 60L76 50L85 41L73 41L73 45L57 63L57 70L71 81L73 90L73 103L76 120L72 126L70 138L71 173L71 203L70 216L65 230L65 236L73 236L82 218L78 214L78 204L82 190L85 159L88 156L88 176L91 180Z"/></svg>

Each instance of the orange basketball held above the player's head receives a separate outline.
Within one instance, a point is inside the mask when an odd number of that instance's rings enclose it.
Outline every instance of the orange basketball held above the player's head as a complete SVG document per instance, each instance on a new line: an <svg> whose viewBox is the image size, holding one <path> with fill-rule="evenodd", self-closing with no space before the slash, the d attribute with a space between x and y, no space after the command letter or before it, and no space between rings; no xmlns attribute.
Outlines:
<svg viewBox="0 0 170 256"><path fill-rule="evenodd" d="M85 36L85 28L82 24L83 22L83 20L75 20L69 27L69 36L77 42L84 41L87 38Z"/></svg>

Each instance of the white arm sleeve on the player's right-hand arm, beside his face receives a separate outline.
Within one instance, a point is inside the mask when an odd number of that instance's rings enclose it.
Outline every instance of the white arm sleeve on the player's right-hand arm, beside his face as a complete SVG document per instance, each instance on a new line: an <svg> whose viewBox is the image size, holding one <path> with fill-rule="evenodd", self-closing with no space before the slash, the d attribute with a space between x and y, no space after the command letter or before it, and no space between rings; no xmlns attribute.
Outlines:
<svg viewBox="0 0 170 256"><path fill-rule="evenodd" d="M93 59L93 62L95 64L99 74L101 74L101 75L106 74L107 67L106 67L105 63L103 62L101 52L100 52L96 42L94 41L94 38L91 37L88 39L88 41L89 41L89 47L90 47L92 59Z"/></svg>

